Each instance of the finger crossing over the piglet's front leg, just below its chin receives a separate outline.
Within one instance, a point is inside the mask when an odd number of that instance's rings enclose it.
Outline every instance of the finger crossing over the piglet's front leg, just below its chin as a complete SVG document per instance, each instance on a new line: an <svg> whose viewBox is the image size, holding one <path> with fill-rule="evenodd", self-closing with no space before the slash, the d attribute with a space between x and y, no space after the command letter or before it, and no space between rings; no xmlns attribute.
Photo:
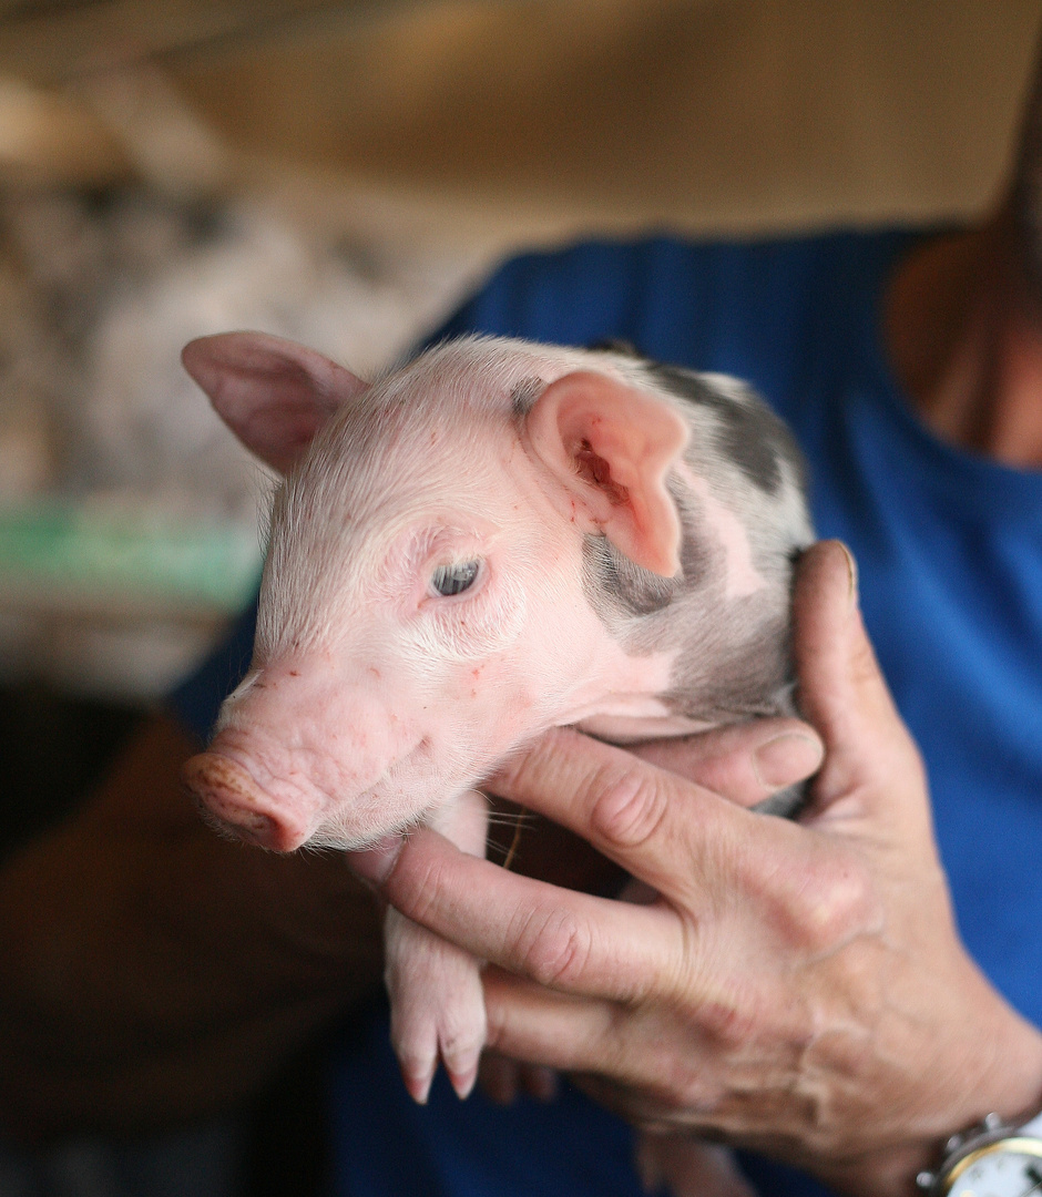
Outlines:
<svg viewBox="0 0 1042 1197"><path fill-rule="evenodd" d="M519 876L430 830L401 845L381 889L407 918L478 959L565 992L636 1001L684 955L683 929L662 906Z"/></svg>

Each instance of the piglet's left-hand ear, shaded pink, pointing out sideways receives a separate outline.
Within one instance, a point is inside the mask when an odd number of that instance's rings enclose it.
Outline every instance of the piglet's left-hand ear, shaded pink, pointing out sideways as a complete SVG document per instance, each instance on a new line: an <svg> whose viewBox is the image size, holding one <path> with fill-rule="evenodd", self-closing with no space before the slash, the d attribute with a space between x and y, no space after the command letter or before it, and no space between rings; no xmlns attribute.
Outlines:
<svg viewBox="0 0 1042 1197"><path fill-rule="evenodd" d="M181 360L238 439L280 474L366 387L321 353L266 333L200 336Z"/></svg>

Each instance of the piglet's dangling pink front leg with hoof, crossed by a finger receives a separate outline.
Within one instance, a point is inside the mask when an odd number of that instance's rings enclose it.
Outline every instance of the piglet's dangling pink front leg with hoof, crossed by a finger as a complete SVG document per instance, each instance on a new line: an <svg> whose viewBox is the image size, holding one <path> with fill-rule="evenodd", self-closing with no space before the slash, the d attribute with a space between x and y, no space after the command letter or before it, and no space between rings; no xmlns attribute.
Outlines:
<svg viewBox="0 0 1042 1197"><path fill-rule="evenodd" d="M462 851L484 856L487 820L484 795L472 790L438 810L431 826ZM406 1088L416 1101L426 1101L441 1058L453 1088L467 1096L485 1045L480 961L393 906L383 934L390 1041Z"/></svg>

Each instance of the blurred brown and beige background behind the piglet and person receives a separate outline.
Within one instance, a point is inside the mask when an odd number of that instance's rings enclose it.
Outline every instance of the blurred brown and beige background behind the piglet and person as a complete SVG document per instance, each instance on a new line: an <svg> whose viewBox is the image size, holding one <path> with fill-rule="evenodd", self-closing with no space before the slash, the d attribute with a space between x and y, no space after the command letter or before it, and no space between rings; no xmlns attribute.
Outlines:
<svg viewBox="0 0 1042 1197"><path fill-rule="evenodd" d="M0 0L0 850L78 801L255 584L269 480L187 340L265 329L364 375L527 245L964 220L1040 17Z"/></svg>

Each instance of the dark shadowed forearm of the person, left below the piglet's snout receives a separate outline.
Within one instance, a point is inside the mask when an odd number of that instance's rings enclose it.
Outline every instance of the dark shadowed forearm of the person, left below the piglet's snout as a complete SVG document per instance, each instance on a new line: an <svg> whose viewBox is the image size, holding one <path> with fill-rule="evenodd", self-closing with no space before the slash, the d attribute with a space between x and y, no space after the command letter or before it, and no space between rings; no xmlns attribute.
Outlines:
<svg viewBox="0 0 1042 1197"><path fill-rule="evenodd" d="M16 1132L217 1108L378 985L374 904L343 859L214 836L177 782L195 748L156 721L0 874L0 1120Z"/></svg>

